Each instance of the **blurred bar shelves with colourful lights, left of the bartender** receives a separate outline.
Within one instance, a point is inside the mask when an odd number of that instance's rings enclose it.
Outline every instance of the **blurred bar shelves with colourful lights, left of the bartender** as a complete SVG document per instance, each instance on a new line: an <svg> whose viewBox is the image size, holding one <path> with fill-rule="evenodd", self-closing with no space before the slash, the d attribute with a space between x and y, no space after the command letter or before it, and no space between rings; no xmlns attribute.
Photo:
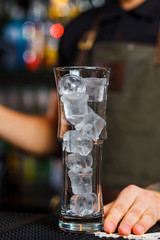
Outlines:
<svg viewBox="0 0 160 240"><path fill-rule="evenodd" d="M24 113L45 112L65 25L103 3L0 0L0 103ZM0 139L0 210L57 212L61 190L60 158L39 157Z"/></svg>

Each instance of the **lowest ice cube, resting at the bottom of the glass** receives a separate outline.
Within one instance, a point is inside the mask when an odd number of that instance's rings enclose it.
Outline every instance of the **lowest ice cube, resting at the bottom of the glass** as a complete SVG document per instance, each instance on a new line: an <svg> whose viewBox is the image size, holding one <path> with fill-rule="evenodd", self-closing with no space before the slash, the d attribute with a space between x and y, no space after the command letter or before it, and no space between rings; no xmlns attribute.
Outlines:
<svg viewBox="0 0 160 240"><path fill-rule="evenodd" d="M80 217L96 214L98 212L97 195L95 193L73 195L70 199L70 209Z"/></svg>

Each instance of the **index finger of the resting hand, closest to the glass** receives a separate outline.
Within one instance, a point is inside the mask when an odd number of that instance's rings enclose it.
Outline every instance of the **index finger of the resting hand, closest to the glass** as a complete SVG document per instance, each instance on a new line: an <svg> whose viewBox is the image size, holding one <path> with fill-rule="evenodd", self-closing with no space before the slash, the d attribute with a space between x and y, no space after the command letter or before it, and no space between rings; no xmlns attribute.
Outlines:
<svg viewBox="0 0 160 240"><path fill-rule="evenodd" d="M113 233L116 230L118 223L134 203L138 192L138 187L130 185L119 194L118 198L115 200L110 211L108 212L104 222L104 230L107 233ZM125 228L128 232L130 226L125 225L124 229Z"/></svg>

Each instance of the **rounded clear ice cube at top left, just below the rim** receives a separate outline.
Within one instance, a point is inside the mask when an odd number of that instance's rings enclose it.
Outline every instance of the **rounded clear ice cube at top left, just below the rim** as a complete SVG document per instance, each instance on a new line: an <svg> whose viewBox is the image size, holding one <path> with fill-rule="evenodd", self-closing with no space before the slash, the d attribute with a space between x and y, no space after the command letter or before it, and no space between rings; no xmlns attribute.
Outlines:
<svg viewBox="0 0 160 240"><path fill-rule="evenodd" d="M74 74L66 74L61 78L59 85L60 94L85 93L84 79Z"/></svg>

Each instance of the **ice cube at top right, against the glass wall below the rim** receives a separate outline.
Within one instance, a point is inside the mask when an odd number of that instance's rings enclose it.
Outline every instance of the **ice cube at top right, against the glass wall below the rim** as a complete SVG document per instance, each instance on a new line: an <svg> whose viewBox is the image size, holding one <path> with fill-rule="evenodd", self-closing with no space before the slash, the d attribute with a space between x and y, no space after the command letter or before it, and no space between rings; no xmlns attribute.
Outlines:
<svg viewBox="0 0 160 240"><path fill-rule="evenodd" d="M84 78L86 84L86 94L89 95L89 101L102 102L104 87L107 83L106 78Z"/></svg>

